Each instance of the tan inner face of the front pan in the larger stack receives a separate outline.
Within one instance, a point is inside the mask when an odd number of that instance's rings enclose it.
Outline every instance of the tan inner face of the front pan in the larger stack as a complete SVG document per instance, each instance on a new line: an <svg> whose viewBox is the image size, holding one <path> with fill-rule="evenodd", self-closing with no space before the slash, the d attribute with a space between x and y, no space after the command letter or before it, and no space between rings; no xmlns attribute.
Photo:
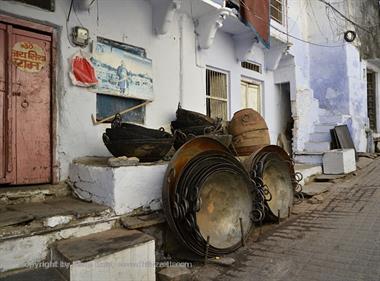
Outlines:
<svg viewBox="0 0 380 281"><path fill-rule="evenodd" d="M196 222L203 238L215 248L233 248L241 241L240 218L245 231L251 228L252 195L238 173L217 172L206 179L200 195ZM246 233L245 233L246 234Z"/></svg>

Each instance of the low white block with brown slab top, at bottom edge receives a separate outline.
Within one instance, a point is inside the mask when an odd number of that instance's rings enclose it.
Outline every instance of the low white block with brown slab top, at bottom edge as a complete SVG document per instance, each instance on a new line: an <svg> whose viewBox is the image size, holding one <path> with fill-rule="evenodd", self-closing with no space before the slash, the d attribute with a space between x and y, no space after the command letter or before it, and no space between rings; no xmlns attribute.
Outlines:
<svg viewBox="0 0 380 281"><path fill-rule="evenodd" d="M54 243L51 260L70 281L154 281L154 244L138 230L112 229Z"/></svg>

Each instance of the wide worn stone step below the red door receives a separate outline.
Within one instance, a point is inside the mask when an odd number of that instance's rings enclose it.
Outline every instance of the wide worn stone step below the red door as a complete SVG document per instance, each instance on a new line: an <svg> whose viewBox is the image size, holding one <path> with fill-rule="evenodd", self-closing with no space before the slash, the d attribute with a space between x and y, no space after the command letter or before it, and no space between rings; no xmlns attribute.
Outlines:
<svg viewBox="0 0 380 281"><path fill-rule="evenodd" d="M46 260L52 242L109 230L119 218L108 207L70 197L0 209L0 274L33 267Z"/></svg>

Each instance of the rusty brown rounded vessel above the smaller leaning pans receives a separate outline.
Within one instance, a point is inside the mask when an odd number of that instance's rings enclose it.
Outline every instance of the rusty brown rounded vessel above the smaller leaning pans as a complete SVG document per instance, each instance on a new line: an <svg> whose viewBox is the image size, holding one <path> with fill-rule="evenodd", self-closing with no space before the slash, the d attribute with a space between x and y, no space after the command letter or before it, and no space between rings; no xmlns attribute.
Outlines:
<svg viewBox="0 0 380 281"><path fill-rule="evenodd" d="M264 118L251 108L235 112L228 125L228 132L233 135L233 144L238 155L250 155L256 145L270 143Z"/></svg>

